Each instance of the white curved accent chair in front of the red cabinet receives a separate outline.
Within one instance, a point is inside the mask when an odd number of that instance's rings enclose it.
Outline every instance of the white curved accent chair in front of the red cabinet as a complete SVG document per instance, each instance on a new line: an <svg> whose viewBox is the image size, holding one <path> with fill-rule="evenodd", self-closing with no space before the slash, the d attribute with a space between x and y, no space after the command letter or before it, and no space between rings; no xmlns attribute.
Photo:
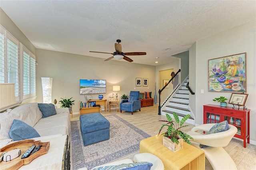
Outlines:
<svg viewBox="0 0 256 170"><path fill-rule="evenodd" d="M228 125L228 130L224 132L218 132L214 134L202 134L202 131L206 133L216 123L208 123L193 127L189 132L186 132L194 140L190 141L193 146L199 148L205 152L205 156L212 165L214 170L237 170L236 164L224 150L224 146L227 146L232 137L236 134L237 128L233 125ZM197 131L201 131L201 133ZM200 144L210 146L208 148L200 148Z"/></svg>

